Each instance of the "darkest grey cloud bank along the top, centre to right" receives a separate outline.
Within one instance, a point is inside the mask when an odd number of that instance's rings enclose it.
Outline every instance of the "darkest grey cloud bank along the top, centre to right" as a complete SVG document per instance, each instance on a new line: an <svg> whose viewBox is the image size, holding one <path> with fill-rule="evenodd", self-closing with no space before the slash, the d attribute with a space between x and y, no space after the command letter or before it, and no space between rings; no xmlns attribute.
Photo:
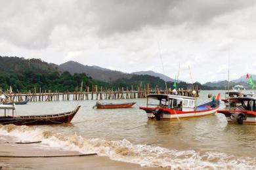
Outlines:
<svg viewBox="0 0 256 170"><path fill-rule="evenodd" d="M205 25L228 12L250 7L253 1L107 0L93 1L92 11L100 33L126 33L146 26Z"/></svg>

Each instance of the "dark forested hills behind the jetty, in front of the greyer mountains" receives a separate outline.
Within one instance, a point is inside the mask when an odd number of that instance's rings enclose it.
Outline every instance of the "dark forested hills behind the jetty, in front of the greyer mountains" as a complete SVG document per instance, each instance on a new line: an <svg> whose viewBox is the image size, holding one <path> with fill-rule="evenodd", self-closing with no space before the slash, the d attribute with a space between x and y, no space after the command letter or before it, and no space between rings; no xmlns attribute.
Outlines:
<svg viewBox="0 0 256 170"><path fill-rule="evenodd" d="M41 61L41 59L24 59L17 57L0 56L0 87L7 90L12 86L15 92L26 92L33 88L41 88L42 90L58 90L70 92L75 90L75 86L80 86L83 80L83 85L90 88L94 85L102 86L103 88L131 88L137 89L140 85L142 88L146 84L150 84L151 88L158 86L160 89L165 89L165 82L157 76L150 75L129 75L127 78L118 78L110 82L95 80L87 73L70 74L67 71L58 71L58 65ZM104 73L102 73L104 74ZM168 88L173 89L173 82L167 82ZM179 88L188 88L191 84L181 82ZM199 89L212 90L208 86L197 84Z"/></svg>

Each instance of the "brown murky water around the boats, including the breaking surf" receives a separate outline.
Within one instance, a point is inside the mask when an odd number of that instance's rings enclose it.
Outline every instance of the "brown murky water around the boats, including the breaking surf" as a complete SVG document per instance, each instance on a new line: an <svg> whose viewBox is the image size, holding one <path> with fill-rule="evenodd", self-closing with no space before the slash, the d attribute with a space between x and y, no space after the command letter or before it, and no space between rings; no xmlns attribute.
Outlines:
<svg viewBox="0 0 256 170"><path fill-rule="evenodd" d="M198 105L209 101L208 93L217 94L217 91L200 92ZM221 93L224 97L224 91ZM148 120L138 108L146 105L146 99L126 101L136 101L137 105L131 109L92 109L96 101L81 101L81 110L71 124L8 127L11 131L0 127L0 135L11 135L21 141L41 140L42 147L97 152L112 160L142 166L256 168L256 125L228 124L223 114L181 120L181 123ZM77 103L29 103L17 106L17 114L51 114L72 110Z"/></svg>

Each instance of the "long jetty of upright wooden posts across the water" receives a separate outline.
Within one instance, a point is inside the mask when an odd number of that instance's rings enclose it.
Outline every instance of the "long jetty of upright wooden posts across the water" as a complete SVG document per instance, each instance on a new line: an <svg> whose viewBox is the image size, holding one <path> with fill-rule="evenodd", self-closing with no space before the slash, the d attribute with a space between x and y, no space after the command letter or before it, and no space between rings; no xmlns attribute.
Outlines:
<svg viewBox="0 0 256 170"><path fill-rule="evenodd" d="M183 90L179 88L177 90L178 95L190 96L190 97L198 97L199 90L196 88L196 94L193 95L192 90ZM102 99L138 99L144 98L146 95L150 93L168 93L174 94L174 92L169 88L168 90L159 90L156 86L155 88L150 88L149 84L146 84L144 88L138 87L137 90L131 86L129 88L117 88L116 90L111 89L104 89L102 87L98 88L98 86L93 86L90 88L86 86L85 89L80 87L75 88L74 92L58 92L57 90L30 90L26 93L11 93L9 97L12 101L79 101L79 100L102 100Z"/></svg>

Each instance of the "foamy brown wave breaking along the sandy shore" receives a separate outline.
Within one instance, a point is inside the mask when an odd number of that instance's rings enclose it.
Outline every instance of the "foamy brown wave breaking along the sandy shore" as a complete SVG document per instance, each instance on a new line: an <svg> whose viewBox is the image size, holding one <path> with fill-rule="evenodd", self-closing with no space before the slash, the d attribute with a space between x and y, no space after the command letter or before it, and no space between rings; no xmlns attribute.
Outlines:
<svg viewBox="0 0 256 170"><path fill-rule="evenodd" d="M137 163L146 167L171 169L256 169L256 158L232 156L220 152L171 150L160 146L132 144L126 139L106 141L86 139L76 134L61 134L38 127L0 125L0 135L24 141L42 141L42 146L72 150L83 154L97 153L112 160ZM171 141L170 141L171 142Z"/></svg>

